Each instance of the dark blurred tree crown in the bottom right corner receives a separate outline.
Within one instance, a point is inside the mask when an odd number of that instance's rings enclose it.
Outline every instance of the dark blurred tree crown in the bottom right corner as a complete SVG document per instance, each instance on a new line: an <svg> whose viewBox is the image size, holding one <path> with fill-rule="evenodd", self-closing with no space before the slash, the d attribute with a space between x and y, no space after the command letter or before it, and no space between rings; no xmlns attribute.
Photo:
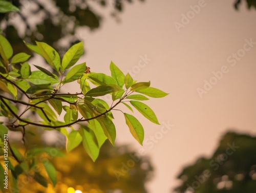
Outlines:
<svg viewBox="0 0 256 193"><path fill-rule="evenodd" d="M255 193L256 137L226 133L211 158L183 168L175 192Z"/></svg>

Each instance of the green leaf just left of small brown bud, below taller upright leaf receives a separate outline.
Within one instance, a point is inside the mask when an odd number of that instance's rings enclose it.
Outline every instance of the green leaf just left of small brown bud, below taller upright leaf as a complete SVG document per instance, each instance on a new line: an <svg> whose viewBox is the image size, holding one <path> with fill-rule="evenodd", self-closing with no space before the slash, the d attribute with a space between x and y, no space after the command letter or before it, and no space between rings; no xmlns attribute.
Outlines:
<svg viewBox="0 0 256 193"><path fill-rule="evenodd" d="M86 62L80 63L80 65L74 66L67 74L67 76L64 79L65 83L72 82L74 80L77 80L84 71L86 70Z"/></svg>

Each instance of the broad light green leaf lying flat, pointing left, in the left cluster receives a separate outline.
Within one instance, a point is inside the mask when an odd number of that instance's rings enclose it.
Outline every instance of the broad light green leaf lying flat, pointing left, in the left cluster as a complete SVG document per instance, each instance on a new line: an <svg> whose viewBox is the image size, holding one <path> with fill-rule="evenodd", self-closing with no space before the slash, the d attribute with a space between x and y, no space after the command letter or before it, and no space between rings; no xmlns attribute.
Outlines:
<svg viewBox="0 0 256 193"><path fill-rule="evenodd" d="M33 84L55 84L58 83L59 81L56 80L55 78L48 76L47 74L41 72L41 71L33 71L29 78L27 78L30 82Z"/></svg>

